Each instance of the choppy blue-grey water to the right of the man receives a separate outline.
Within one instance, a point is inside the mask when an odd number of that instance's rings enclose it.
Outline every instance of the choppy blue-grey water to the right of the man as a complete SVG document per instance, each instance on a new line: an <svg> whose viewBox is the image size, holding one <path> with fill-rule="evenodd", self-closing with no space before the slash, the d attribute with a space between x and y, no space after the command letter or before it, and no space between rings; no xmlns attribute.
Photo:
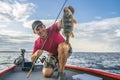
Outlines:
<svg viewBox="0 0 120 80"><path fill-rule="evenodd" d="M68 64L120 74L120 53L73 53Z"/></svg>

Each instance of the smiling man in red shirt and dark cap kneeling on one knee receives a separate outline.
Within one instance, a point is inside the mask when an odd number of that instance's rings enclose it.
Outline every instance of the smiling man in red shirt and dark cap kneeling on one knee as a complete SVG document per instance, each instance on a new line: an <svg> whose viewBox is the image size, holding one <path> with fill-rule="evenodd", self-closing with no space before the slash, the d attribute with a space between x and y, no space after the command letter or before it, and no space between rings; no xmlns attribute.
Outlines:
<svg viewBox="0 0 120 80"><path fill-rule="evenodd" d="M59 66L58 80L65 80L64 66L70 51L70 44L65 42L63 36L59 33L61 30L61 20L46 29L46 26L39 20L34 21L32 29L39 38L35 41L31 61L34 62L43 50L48 52L48 57L44 61L42 70L44 77L51 77L56 64Z"/></svg>

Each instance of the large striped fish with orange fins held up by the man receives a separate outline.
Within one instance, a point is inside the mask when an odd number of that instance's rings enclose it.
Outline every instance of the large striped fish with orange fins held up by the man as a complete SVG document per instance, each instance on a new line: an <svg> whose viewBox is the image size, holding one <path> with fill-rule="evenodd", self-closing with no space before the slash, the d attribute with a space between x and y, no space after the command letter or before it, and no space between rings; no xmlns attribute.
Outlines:
<svg viewBox="0 0 120 80"><path fill-rule="evenodd" d="M69 43L69 37L74 38L73 26L76 24L76 20L73 18L73 8L71 6L64 8L63 18L62 18L62 27L63 35L66 37L66 42Z"/></svg>

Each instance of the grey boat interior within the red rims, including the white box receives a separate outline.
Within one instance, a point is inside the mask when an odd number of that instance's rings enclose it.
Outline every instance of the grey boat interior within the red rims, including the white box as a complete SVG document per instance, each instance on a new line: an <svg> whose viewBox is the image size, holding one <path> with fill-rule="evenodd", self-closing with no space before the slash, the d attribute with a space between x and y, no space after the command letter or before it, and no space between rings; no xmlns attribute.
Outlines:
<svg viewBox="0 0 120 80"><path fill-rule="evenodd" d="M10 72L0 76L0 80L57 80L58 71L55 71L50 78L45 78L42 74L42 65L35 65L29 78L27 78L28 71L22 71L21 66L17 66ZM87 73L81 70L72 68L65 68L66 80L120 80L119 78L113 79L102 75ZM77 76L77 77L75 77ZM74 79L73 79L74 77Z"/></svg>

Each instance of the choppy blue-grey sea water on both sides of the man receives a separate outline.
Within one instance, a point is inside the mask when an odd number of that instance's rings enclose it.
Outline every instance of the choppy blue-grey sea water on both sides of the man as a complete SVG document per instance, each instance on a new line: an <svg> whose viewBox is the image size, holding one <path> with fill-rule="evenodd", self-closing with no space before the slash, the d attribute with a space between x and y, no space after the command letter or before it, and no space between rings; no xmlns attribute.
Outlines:
<svg viewBox="0 0 120 80"><path fill-rule="evenodd" d="M30 55L31 51L26 52L25 58L30 60ZM19 51L0 51L0 71L12 65L18 56L20 56ZM73 52L67 64L120 75L120 53L118 52Z"/></svg>

